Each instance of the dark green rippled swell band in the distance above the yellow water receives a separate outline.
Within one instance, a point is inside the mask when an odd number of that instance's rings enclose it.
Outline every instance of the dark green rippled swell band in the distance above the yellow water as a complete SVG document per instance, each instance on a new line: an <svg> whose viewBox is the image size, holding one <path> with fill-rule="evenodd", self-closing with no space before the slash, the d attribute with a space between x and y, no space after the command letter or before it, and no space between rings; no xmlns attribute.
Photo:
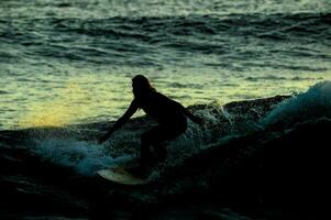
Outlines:
<svg viewBox="0 0 331 220"><path fill-rule="evenodd" d="M329 13L253 13L227 16L117 16L96 20L30 19L18 23L11 22L13 29L10 32L0 28L0 40L29 46L29 54L34 56L91 63L112 62L119 65L124 63L117 57L126 56L129 58L126 65L157 66L159 62L153 59L153 56L159 53L159 50L222 56L231 53L238 57L244 55L241 53L249 53L249 56L254 55L255 58L263 55L254 50L235 52L233 45L230 47L227 43L229 36L234 40L239 36L249 36L265 43L296 44L300 42L305 44L309 37L309 41L327 46L331 35L330 18ZM0 21L2 25L9 25L9 20ZM29 31L31 25L36 26L34 32ZM87 42L89 46L86 46ZM264 53L268 51L269 48L265 47ZM121 54L123 52L126 54ZM304 57L318 55L310 54L305 48L296 53L297 56ZM141 55L144 62L134 58ZM328 54L323 56L330 58Z"/></svg>

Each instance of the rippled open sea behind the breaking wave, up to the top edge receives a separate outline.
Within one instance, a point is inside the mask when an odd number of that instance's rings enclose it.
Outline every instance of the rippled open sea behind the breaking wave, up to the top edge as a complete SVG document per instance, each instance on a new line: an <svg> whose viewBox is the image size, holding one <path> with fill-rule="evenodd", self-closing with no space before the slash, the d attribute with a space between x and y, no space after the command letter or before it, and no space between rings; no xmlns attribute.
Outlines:
<svg viewBox="0 0 331 220"><path fill-rule="evenodd" d="M330 14L329 0L1 1L0 129L114 120L136 74L184 106L306 91L331 79Z"/></svg>

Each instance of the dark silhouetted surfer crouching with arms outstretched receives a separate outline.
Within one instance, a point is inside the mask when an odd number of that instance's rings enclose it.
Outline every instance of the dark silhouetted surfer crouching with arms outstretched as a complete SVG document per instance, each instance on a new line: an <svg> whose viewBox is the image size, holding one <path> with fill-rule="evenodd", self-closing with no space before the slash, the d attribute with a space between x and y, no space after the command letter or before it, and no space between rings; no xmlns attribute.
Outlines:
<svg viewBox="0 0 331 220"><path fill-rule="evenodd" d="M156 91L150 80L143 75L136 75L132 79L134 99L125 113L113 124L113 127L99 140L99 143L107 141L110 135L129 121L137 109L158 122L158 125L152 128L141 135L141 157L140 166L132 168L130 173L145 176L151 163L151 147L157 155L158 161L166 157L165 141L172 141L187 129L187 118L198 124L202 124L201 118L190 113L179 102Z"/></svg>

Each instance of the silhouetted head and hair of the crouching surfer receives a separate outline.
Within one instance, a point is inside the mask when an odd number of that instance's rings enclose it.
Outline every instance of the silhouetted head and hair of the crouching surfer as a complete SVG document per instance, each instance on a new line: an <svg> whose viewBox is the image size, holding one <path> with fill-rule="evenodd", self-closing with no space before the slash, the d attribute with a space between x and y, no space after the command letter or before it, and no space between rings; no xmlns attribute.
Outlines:
<svg viewBox="0 0 331 220"><path fill-rule="evenodd" d="M135 98L142 98L144 95L155 91L150 80L143 75L136 75L132 78L132 88Z"/></svg>

